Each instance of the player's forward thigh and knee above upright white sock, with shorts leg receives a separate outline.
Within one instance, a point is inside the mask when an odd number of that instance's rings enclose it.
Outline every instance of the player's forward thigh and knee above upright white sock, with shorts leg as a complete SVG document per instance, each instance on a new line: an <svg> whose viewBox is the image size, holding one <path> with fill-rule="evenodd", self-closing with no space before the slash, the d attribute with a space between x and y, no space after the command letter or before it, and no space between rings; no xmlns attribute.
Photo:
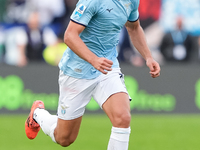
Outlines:
<svg viewBox="0 0 200 150"><path fill-rule="evenodd" d="M101 78L94 90L93 97L106 112L114 126L127 126L126 124L129 124L130 96L125 87L123 74L119 69L113 69Z"/></svg>

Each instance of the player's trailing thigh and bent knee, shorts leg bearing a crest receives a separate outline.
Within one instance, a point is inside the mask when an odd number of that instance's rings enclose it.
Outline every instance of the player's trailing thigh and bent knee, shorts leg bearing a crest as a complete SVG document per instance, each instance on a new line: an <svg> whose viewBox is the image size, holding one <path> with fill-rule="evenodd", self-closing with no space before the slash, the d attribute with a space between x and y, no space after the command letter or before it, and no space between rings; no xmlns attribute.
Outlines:
<svg viewBox="0 0 200 150"><path fill-rule="evenodd" d="M54 132L59 144L68 145L76 139L95 86L96 80L76 79L60 72L58 122Z"/></svg>

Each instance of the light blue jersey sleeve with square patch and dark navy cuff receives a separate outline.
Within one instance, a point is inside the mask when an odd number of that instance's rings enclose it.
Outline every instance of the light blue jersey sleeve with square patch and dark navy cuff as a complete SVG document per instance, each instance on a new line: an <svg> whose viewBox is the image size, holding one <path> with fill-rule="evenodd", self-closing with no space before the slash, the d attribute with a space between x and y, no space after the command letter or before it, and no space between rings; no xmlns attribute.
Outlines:
<svg viewBox="0 0 200 150"><path fill-rule="evenodd" d="M94 16L97 11L98 2L99 0L80 0L70 19L76 23L87 26L92 16Z"/></svg>

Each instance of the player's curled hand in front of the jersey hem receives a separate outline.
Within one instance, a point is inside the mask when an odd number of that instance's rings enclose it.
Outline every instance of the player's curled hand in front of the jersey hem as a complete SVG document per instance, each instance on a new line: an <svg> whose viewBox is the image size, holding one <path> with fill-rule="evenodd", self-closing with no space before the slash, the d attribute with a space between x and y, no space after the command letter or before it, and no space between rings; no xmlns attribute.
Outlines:
<svg viewBox="0 0 200 150"><path fill-rule="evenodd" d="M107 74L108 71L112 70L113 62L107 58L104 57L98 57L97 59L94 59L92 62L92 66L102 72L103 74Z"/></svg>

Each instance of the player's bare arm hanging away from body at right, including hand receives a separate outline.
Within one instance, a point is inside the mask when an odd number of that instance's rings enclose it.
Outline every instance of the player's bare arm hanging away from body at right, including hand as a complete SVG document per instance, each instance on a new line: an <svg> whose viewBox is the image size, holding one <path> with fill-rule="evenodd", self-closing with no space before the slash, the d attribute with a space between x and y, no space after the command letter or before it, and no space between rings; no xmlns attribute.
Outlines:
<svg viewBox="0 0 200 150"><path fill-rule="evenodd" d="M146 38L143 32L142 27L140 26L139 19L135 22L127 21L126 29L131 38L131 42L138 50L138 52L142 55L142 57L146 60L146 65L150 69L150 74L153 78L158 77L160 75L160 66L153 59L151 52L147 46Z"/></svg>

